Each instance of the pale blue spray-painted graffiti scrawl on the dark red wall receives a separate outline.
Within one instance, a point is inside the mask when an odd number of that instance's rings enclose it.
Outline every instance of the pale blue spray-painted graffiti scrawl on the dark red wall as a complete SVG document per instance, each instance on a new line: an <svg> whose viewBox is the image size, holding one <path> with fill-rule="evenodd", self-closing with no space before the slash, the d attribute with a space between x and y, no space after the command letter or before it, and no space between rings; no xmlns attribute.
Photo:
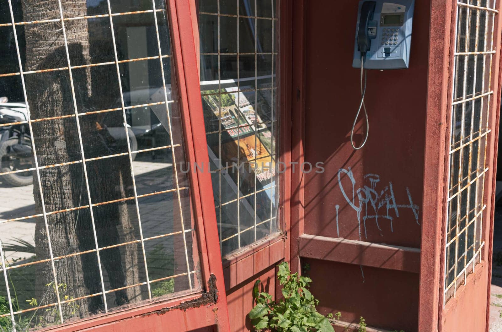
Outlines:
<svg viewBox="0 0 502 332"><path fill-rule="evenodd" d="M347 191L343 187L342 184L342 176L343 174L351 182L351 190L349 190L349 196ZM415 216L415 221L418 225L420 225L418 221L418 212L419 206L413 203L413 199L411 197L410 189L406 187L406 193L408 195L409 204L397 204L396 196L394 195L394 188L392 186L392 182L389 182L388 185L385 186L384 189L380 190L380 192L376 189L376 185L380 182L380 175L368 173L364 175L364 179L369 182L369 186L364 185L362 187L355 187L355 179L354 174L350 167L348 169L341 168L338 170L338 186L340 187L340 191L345 197L347 203L357 212L357 221L359 226L359 240L361 240L361 221L364 228L364 237L367 239L366 232L366 220L374 219L376 227L382 232L380 228L379 222L383 220L389 220L391 226L391 232L394 232L393 221L395 218L399 217L399 211L403 208L409 208L413 211L413 215ZM351 193L350 193L351 191ZM336 231L339 234L338 228L338 204L336 205ZM391 215L391 212L394 211L394 215ZM362 218L361 218L362 216ZM382 233L380 233L382 235ZM382 235L383 236L383 235Z"/></svg>

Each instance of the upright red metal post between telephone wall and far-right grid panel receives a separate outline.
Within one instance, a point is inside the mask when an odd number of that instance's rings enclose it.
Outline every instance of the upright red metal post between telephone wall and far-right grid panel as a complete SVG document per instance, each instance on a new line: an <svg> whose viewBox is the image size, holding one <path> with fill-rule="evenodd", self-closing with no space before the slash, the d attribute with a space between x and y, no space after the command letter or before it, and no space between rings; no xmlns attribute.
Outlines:
<svg viewBox="0 0 502 332"><path fill-rule="evenodd" d="M448 79L452 74L449 66L452 3L432 0L430 18L418 330L434 332L438 330L442 308L438 271L443 271L440 268L443 225L438 220L443 219L444 175L448 174L444 151L449 128Z"/></svg>

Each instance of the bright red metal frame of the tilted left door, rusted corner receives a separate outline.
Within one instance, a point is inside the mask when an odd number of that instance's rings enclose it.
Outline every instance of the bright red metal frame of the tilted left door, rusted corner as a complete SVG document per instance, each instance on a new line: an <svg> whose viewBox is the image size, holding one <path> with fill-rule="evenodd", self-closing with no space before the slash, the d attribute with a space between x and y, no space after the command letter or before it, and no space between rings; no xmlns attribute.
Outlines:
<svg viewBox="0 0 502 332"><path fill-rule="evenodd" d="M198 41L195 39L193 15L194 0L166 0L175 60L175 79L178 102L183 123L186 161L209 164L202 101L200 98ZM94 315L74 323L48 328L73 332L82 329L96 331L176 330L188 331L215 326L218 331L229 332L228 308L216 226L211 177L199 169L190 172L192 214L196 225L197 245L202 292L180 292L176 298L159 299L154 303L132 306L113 313ZM197 264L197 262L195 263ZM131 319L135 318L135 319Z"/></svg>

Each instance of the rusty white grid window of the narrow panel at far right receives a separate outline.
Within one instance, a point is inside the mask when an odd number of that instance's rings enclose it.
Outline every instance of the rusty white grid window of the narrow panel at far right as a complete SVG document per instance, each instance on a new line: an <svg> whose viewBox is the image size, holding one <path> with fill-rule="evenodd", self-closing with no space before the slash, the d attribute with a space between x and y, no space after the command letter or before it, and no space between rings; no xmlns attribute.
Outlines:
<svg viewBox="0 0 502 332"><path fill-rule="evenodd" d="M457 3L452 81L444 302L481 260L495 0Z"/></svg>

